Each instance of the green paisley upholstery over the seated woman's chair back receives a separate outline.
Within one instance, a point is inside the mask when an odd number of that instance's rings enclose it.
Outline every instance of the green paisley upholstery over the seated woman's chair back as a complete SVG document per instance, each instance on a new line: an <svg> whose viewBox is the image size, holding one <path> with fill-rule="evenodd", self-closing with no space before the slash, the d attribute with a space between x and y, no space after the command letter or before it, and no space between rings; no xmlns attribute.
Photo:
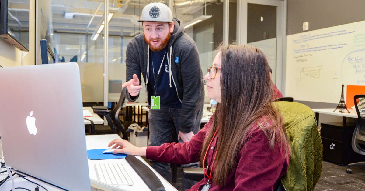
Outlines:
<svg viewBox="0 0 365 191"><path fill-rule="evenodd" d="M313 191L322 172L323 151L314 112L296 102L273 104L284 118L292 148L289 168L281 182L286 191Z"/></svg>

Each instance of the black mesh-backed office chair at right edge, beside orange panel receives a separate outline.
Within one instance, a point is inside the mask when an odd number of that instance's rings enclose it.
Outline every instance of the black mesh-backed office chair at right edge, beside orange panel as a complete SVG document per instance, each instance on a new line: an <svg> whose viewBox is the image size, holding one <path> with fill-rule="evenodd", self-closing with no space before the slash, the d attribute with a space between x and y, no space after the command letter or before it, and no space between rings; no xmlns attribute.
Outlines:
<svg viewBox="0 0 365 191"><path fill-rule="evenodd" d="M365 155L365 95L354 96L354 103L357 112L357 124L352 135L352 149ZM351 166L365 165L365 162L350 163L347 165L347 173L351 174Z"/></svg>

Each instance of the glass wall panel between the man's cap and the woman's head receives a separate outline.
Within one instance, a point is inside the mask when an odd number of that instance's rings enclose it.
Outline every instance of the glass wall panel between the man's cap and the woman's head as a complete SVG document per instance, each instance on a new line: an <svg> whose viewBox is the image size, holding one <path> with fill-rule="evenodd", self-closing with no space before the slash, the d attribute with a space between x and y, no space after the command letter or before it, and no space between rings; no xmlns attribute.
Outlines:
<svg viewBox="0 0 365 191"><path fill-rule="evenodd" d="M215 49L222 43L223 1L175 0L173 16L178 17L183 21L185 32L195 41L199 51L201 70L203 71L203 75L205 75L207 73L207 68L212 66L212 62L216 55ZM233 20L235 21L236 18L234 17ZM236 27L234 27L234 29L235 28ZM236 39L235 36L236 35L229 35L234 41ZM208 92L205 88L205 103L210 103L210 99L207 95Z"/></svg>

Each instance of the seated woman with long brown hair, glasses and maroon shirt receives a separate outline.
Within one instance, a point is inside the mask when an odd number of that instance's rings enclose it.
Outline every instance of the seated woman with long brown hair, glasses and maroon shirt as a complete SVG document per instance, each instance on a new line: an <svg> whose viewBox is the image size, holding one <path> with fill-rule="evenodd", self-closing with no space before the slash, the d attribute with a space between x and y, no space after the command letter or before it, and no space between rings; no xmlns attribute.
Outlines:
<svg viewBox="0 0 365 191"><path fill-rule="evenodd" d="M189 142L135 147L115 139L113 153L167 163L200 161L205 177L190 190L272 191L287 172L290 146L272 103L264 53L247 45L220 46L208 68L208 96L218 102L210 121Z"/></svg>

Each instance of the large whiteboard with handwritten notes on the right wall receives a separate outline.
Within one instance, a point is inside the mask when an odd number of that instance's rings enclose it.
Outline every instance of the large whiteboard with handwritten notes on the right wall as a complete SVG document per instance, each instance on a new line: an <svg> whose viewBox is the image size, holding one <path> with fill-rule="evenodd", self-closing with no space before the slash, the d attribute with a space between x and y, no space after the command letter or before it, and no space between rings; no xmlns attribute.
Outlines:
<svg viewBox="0 0 365 191"><path fill-rule="evenodd" d="M346 85L365 85L364 48L365 21L288 35L285 96L339 103L344 84L346 100Z"/></svg>

